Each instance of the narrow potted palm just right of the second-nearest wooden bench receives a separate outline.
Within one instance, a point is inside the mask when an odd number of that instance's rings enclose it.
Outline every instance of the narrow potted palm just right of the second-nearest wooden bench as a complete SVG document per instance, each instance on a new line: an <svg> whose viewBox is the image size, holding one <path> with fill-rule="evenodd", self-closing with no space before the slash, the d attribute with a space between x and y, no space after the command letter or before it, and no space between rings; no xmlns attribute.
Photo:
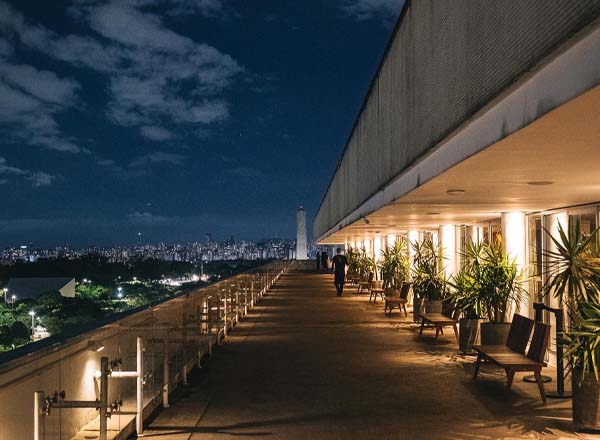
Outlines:
<svg viewBox="0 0 600 440"><path fill-rule="evenodd" d="M473 351L481 316L484 314L477 282L482 249L483 245L480 243L468 243L461 253L462 267L449 282L452 288L452 303L457 310L460 310L458 347L463 353Z"/></svg>

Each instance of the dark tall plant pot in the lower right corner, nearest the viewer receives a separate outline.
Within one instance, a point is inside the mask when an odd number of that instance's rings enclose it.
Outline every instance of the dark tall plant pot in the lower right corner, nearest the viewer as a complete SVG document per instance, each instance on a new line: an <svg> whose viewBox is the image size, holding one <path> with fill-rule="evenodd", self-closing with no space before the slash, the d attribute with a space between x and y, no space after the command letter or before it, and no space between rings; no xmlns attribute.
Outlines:
<svg viewBox="0 0 600 440"><path fill-rule="evenodd" d="M594 372L581 380L581 369L573 369L573 424L577 429L600 429L600 381Z"/></svg>

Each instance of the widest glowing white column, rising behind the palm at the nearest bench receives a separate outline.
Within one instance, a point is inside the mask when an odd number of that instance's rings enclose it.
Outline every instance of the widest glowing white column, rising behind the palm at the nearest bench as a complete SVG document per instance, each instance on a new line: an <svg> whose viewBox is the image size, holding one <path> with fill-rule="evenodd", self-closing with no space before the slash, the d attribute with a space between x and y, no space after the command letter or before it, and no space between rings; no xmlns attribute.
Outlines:
<svg viewBox="0 0 600 440"><path fill-rule="evenodd" d="M520 211L503 212L501 217L502 247L508 258L517 264L517 270L523 274L522 281L525 277L526 221L525 213ZM529 316L529 299L524 298L518 309L520 314Z"/></svg>

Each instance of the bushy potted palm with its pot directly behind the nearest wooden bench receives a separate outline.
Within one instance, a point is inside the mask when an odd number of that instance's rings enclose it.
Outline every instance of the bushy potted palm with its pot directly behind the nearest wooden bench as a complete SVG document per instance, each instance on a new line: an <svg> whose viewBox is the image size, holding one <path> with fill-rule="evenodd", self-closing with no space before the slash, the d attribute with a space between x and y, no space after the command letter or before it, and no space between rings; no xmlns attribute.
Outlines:
<svg viewBox="0 0 600 440"><path fill-rule="evenodd" d="M508 312L514 304L518 310L527 292L515 260L509 259L500 241L481 245L477 264L471 272L481 317L483 345L504 345L508 338L510 323Z"/></svg>

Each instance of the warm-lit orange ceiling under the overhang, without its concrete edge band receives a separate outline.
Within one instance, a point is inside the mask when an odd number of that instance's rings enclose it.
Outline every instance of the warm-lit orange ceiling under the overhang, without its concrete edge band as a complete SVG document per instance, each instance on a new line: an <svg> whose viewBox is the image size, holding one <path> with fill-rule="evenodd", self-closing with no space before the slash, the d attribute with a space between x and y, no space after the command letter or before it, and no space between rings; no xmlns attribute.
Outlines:
<svg viewBox="0 0 600 440"><path fill-rule="evenodd" d="M551 184L547 184L551 183ZM462 194L447 191L463 190ZM335 232L336 244L600 201L600 86Z"/></svg>

